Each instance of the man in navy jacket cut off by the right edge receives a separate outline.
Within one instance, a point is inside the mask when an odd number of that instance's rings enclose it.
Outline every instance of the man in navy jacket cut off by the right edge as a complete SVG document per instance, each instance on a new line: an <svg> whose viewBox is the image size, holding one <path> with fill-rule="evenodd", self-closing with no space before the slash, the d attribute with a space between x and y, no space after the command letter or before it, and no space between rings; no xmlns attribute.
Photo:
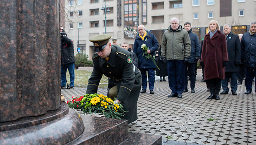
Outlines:
<svg viewBox="0 0 256 145"><path fill-rule="evenodd" d="M242 36L241 52L242 60L246 65L245 94L251 94L252 81L256 77L256 22L252 22L249 31Z"/></svg>

